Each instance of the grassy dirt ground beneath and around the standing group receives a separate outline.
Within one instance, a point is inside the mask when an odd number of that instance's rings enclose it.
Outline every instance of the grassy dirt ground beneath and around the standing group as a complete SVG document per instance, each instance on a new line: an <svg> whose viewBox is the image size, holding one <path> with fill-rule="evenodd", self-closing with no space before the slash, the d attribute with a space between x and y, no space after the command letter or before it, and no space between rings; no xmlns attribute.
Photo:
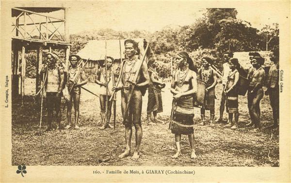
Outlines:
<svg viewBox="0 0 291 183"><path fill-rule="evenodd" d="M26 80L26 91L33 95L34 80ZM96 84L87 84L86 88L97 93ZM80 130L61 130L42 133L38 136L40 103L32 96L26 96L24 107L20 100L14 99L12 106L12 165L28 166L279 166L279 132L278 128L265 128L259 132L245 127L249 122L246 96L239 98L239 128L231 130L222 127L199 126L200 110L196 109L194 117L195 150L197 159L190 159L190 147L187 136L182 136L182 156L172 159L175 153L174 135L168 130L171 112L172 95L169 84L163 90L163 113L155 126L147 124L147 94L143 98L143 140L141 156L137 161L129 157L119 159L118 155L125 148L124 127L120 109L120 93L117 94L116 128L100 130L99 99L82 90ZM222 86L216 86L216 116L220 104ZM46 100L44 100L45 103ZM62 101L62 107L64 100ZM268 96L261 100L262 127L272 125L272 110ZM44 109L43 126L45 130L47 112ZM62 113L62 125L65 126L66 113ZM209 112L206 113L209 119ZM72 115L73 117L73 115ZM74 118L74 117L73 117ZM113 121L113 119L112 119ZM135 144L134 130L131 140L131 154Z"/></svg>

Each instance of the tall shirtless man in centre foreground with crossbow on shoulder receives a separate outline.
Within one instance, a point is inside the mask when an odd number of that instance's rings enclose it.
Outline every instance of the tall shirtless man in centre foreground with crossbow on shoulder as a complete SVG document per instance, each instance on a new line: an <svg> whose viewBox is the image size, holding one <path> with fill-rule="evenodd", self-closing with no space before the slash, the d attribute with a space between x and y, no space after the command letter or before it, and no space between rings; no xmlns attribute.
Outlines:
<svg viewBox="0 0 291 183"><path fill-rule="evenodd" d="M113 90L121 90L121 110L122 115L125 116L126 113L128 117L123 120L125 126L125 141L126 149L125 152L119 155L119 158L124 158L130 155L130 143L132 136L132 124L135 128L135 150L131 157L132 160L137 160L140 156L140 145L143 137L143 130L141 125L141 114L142 114L142 96L146 86L149 84L149 75L147 71L146 62L142 63L141 70L139 72L138 66L142 62L139 59L140 50L138 48L138 43L134 40L126 40L124 42L126 60L121 70L121 82L118 86L113 87ZM135 74L138 74L137 81L131 81ZM133 87L132 82L136 82L130 103L128 103L128 97ZM126 112L126 106L129 105L129 111Z"/></svg>

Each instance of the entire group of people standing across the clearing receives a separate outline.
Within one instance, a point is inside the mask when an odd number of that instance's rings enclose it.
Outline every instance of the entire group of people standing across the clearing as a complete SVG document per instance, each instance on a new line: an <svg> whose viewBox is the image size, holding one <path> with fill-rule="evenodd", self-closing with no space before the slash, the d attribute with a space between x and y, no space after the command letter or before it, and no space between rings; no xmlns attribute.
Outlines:
<svg viewBox="0 0 291 183"><path fill-rule="evenodd" d="M159 80L159 74L156 71L157 62L150 61L146 63L145 57L140 57L140 50L138 43L134 40L126 40L125 57L120 68L113 69L113 58L107 56L104 65L105 68L100 67L96 73L95 83L100 85L99 100L101 108L101 129L110 128L111 108L115 100L115 93L121 90L121 111L123 115L123 124L125 126L125 141L126 149L120 154L119 158L124 158L130 155L131 150L131 136L132 126L135 128L135 149L131 157L137 160L140 156L140 145L143 137L143 130L141 125L142 113L142 97L148 89L148 106L147 116L149 121L155 122L157 120L157 113L162 112L162 95L161 89L165 84ZM194 150L194 107L196 106L197 90L200 85L197 81L204 83L204 99L201 108L200 125L205 125L205 110L210 110L210 126L215 122L223 120L223 113L226 106L228 113L228 124L225 127L236 129L238 127L239 119L239 102L238 96L240 94L240 80L241 77L246 78L249 82L247 84L248 93L248 108L251 122L248 126L255 126L261 128L260 125L260 108L259 103L263 97L262 86L266 85L267 90L265 95L270 96L271 107L273 109L274 126L278 126L278 59L279 52L274 50L270 56L274 64L269 70L267 82L266 73L263 67L264 58L259 53L250 53L250 62L252 67L243 68L237 58L233 58L231 52L224 54L225 63L223 64L223 72L220 74L219 70L213 69L213 61L210 57L204 56L201 59L201 67L197 69L194 66L193 60L186 52L178 52L175 58L177 69L172 73L172 82L170 92L173 94L173 105L171 112L171 121L169 129L175 134L175 142L177 152L172 158L177 158L181 155L180 140L181 135L188 135L191 146L191 158L196 158ZM70 66L65 69L65 66L56 64L58 56L49 52L47 55L47 64L41 70L41 74L45 79L47 92L47 109L48 109L48 127L51 130L51 122L53 119L53 111L56 112L57 127L60 128L61 122L61 96L62 93L67 93L67 124L65 129L74 128L79 129L79 104L82 85L87 83L86 74L83 67L79 66L81 60L78 55L71 55L69 57ZM218 77L222 79L223 91L221 95L220 116L214 121L215 114L215 86ZM72 103L75 109L75 123L71 123ZM150 120L153 114L153 120Z"/></svg>

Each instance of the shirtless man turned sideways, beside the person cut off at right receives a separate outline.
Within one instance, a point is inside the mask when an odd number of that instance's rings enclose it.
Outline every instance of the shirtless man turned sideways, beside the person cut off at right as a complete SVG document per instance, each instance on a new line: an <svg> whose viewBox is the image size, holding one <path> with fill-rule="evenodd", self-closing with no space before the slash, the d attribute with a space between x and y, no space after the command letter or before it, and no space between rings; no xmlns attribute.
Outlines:
<svg viewBox="0 0 291 183"><path fill-rule="evenodd" d="M265 70L262 66L263 64L263 57L254 56L252 65L256 70L251 70L248 73L250 84L248 87L247 100L251 122L247 124L247 126L251 127L255 125L255 128L259 129L261 129L259 102L264 96L262 86L265 80Z"/></svg>

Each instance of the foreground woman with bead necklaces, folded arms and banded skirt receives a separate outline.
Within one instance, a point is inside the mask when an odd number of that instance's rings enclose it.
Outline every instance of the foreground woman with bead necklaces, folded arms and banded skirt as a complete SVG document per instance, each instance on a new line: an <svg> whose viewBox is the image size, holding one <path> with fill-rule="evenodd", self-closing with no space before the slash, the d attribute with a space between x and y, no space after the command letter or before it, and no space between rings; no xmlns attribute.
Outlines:
<svg viewBox="0 0 291 183"><path fill-rule="evenodd" d="M188 135L191 146L191 158L196 158L194 149L194 106L193 96L197 92L197 75L193 68L189 68L192 59L186 52L179 52L175 59L178 70L174 71L171 93L174 95L175 112L172 116L171 131L175 134L177 152L172 158L181 155L181 135Z"/></svg>

